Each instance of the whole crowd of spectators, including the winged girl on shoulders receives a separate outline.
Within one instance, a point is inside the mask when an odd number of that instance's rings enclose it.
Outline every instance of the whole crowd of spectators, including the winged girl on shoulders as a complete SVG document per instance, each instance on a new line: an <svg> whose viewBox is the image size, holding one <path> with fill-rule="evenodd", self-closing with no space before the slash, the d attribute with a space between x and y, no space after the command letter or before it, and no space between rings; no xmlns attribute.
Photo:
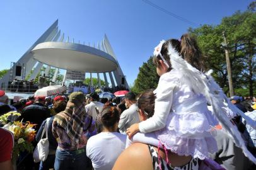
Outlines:
<svg viewBox="0 0 256 170"><path fill-rule="evenodd" d="M18 169L255 169L256 99L226 98L190 35L154 50L158 87L124 98L73 92L31 97L0 114L36 124L34 147L47 131L49 154L40 163L21 157ZM12 134L0 128L0 169L12 169Z"/></svg>

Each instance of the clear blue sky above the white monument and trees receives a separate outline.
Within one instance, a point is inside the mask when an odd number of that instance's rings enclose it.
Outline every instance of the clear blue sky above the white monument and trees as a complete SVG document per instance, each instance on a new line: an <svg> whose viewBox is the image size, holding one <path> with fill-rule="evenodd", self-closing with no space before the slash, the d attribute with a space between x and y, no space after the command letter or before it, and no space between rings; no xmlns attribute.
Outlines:
<svg viewBox="0 0 256 170"><path fill-rule="evenodd" d="M150 0L198 25L217 25L224 16L245 11L248 0ZM106 33L122 71L132 84L139 67L162 39L180 38L191 26L141 0L26 0L0 2L0 70L9 69L59 19L75 42L97 43Z"/></svg>

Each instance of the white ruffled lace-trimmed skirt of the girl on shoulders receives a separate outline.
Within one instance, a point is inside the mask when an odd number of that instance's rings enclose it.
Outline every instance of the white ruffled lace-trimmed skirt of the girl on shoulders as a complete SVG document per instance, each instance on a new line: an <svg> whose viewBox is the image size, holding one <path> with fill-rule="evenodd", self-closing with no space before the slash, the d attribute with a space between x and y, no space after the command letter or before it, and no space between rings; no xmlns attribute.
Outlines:
<svg viewBox="0 0 256 170"><path fill-rule="evenodd" d="M183 110L182 113L171 112L168 115L166 127L155 132L166 149L180 156L190 155L199 159L217 151L213 127L218 122L207 110L207 105L201 104L201 111Z"/></svg>

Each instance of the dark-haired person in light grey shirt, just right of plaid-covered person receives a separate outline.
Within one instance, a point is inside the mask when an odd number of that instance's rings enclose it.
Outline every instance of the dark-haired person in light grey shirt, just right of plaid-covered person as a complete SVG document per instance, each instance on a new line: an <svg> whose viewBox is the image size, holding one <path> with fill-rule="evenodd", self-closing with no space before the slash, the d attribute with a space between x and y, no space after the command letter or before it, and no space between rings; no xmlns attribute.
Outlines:
<svg viewBox="0 0 256 170"><path fill-rule="evenodd" d="M91 93L90 94L90 103L88 105L85 106L85 110L86 112L93 117L93 120L95 120L96 115L98 115L98 113L102 112L103 103L99 102L100 97L98 96L97 93Z"/></svg>

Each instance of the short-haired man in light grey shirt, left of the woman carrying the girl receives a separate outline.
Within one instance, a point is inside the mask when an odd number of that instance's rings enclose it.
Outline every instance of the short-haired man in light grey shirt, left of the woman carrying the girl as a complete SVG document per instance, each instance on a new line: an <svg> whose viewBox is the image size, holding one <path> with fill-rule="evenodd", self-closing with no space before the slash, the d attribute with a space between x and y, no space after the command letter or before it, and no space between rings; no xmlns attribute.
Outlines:
<svg viewBox="0 0 256 170"><path fill-rule="evenodd" d="M138 107L136 104L136 96L134 93L129 92L125 94L125 105L128 108L124 112L122 112L122 115L120 115L119 120L119 130L121 133L126 134L127 128L129 128L134 123L139 123L139 115L137 113Z"/></svg>

